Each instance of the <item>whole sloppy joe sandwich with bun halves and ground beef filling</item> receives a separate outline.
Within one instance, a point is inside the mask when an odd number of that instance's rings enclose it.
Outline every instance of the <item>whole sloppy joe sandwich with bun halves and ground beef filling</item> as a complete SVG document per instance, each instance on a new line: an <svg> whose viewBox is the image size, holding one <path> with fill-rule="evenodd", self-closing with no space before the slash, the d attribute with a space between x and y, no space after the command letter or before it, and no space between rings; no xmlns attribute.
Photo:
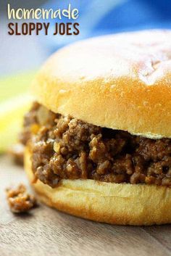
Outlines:
<svg viewBox="0 0 171 256"><path fill-rule="evenodd" d="M42 202L105 223L171 223L170 30L66 46L32 88L20 140Z"/></svg>

